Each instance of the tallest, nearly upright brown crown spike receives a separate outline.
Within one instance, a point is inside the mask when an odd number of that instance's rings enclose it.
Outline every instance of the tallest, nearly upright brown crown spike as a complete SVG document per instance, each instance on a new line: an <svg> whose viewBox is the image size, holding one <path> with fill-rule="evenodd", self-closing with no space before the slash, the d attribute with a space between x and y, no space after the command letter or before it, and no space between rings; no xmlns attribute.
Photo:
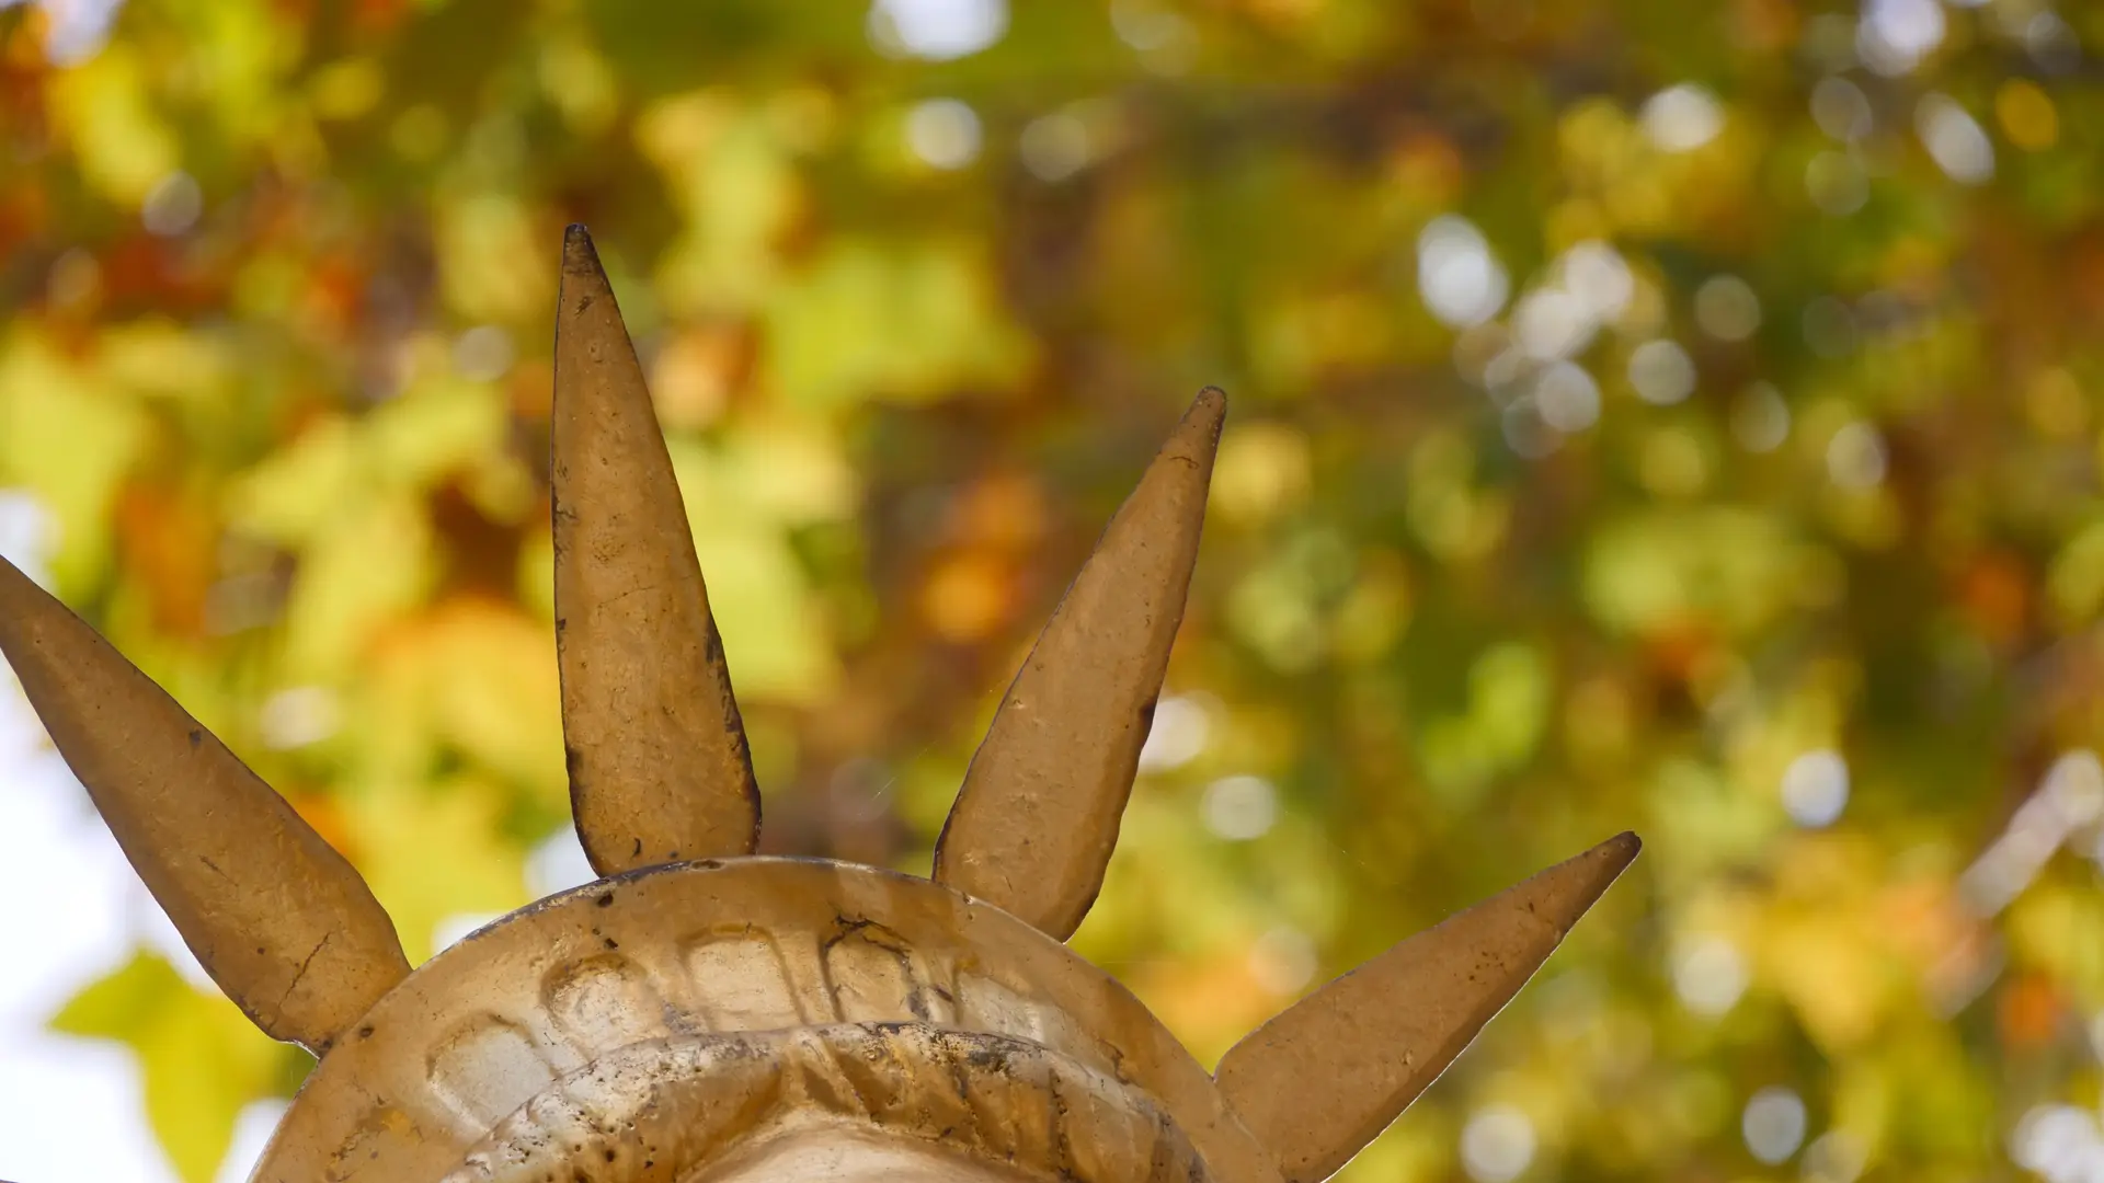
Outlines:
<svg viewBox="0 0 2104 1183"><path fill-rule="evenodd" d="M562 244L551 425L570 808L602 876L760 842L760 787L642 364L585 227Z"/></svg>

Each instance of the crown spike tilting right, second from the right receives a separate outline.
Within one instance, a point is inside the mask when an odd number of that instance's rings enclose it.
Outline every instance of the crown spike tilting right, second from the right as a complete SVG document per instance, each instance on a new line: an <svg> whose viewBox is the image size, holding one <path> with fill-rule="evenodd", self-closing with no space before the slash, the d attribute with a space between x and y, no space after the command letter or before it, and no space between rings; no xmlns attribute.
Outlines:
<svg viewBox="0 0 2104 1183"><path fill-rule="evenodd" d="M1227 396L1199 392L1008 686L934 878L1067 939L1096 901L1182 621Z"/></svg>

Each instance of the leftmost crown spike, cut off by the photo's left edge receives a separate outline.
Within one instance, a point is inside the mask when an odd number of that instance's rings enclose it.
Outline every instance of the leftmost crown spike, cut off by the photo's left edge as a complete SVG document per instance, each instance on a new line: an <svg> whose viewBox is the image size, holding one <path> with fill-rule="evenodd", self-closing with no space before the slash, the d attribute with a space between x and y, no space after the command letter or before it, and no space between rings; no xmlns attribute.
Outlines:
<svg viewBox="0 0 2104 1183"><path fill-rule="evenodd" d="M257 1027L320 1055L408 977L343 855L6 560L0 655L183 943Z"/></svg>

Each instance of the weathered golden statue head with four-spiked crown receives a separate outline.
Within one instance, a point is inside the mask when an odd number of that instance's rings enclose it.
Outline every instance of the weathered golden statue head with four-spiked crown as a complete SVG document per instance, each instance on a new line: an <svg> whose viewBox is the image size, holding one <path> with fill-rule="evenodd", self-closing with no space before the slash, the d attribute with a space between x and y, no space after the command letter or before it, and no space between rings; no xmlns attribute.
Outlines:
<svg viewBox="0 0 2104 1183"><path fill-rule="evenodd" d="M753 857L694 545L581 227L555 326L555 657L604 878L410 970L358 871L4 562L0 653L204 968L320 1057L259 1183L1313 1183L1445 1069L1637 840L1403 941L1216 1074L1065 947L1117 838L1225 410L1199 394L1111 520L928 880Z"/></svg>

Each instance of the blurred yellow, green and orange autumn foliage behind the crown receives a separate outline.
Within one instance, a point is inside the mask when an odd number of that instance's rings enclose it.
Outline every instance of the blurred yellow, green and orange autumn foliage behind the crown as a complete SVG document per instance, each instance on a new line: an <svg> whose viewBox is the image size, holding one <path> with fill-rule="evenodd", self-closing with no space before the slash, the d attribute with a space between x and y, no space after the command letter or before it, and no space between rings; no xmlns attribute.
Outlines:
<svg viewBox="0 0 2104 1183"><path fill-rule="evenodd" d="M1635 827L1351 1179L2104 1156L2104 8L65 11L0 11L0 486L412 958L526 903L566 823L545 421L585 221L768 848L926 869L1220 383L1079 937L1201 1059ZM303 1071L145 956L59 1023L143 1057L198 1181Z"/></svg>

